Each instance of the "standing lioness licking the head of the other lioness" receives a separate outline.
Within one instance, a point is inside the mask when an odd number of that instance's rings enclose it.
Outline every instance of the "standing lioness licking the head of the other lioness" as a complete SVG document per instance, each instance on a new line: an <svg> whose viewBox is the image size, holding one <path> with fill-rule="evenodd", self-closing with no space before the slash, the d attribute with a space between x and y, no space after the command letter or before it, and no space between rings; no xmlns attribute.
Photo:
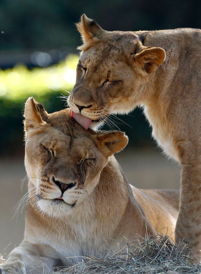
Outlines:
<svg viewBox="0 0 201 274"><path fill-rule="evenodd" d="M176 239L201 258L201 31L110 32L85 15L77 27L84 43L69 106L92 128L144 106L152 135L182 167Z"/></svg>

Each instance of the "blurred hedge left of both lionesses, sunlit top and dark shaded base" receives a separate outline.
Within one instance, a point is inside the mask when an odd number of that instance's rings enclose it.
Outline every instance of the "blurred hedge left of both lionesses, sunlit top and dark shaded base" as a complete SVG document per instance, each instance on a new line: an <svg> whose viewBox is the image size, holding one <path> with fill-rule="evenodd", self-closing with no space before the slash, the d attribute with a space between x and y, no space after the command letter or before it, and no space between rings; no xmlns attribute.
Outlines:
<svg viewBox="0 0 201 274"><path fill-rule="evenodd" d="M64 107L61 94L68 95L76 79L77 55L48 68L28 70L23 65L0 71L0 151L23 153L23 110L29 96L42 102L48 112ZM65 89L65 90L64 90Z"/></svg>

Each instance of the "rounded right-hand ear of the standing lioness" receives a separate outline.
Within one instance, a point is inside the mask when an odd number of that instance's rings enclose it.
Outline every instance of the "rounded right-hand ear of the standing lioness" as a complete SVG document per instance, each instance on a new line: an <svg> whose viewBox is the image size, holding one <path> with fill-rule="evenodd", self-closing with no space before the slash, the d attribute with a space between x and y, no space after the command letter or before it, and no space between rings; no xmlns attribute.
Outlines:
<svg viewBox="0 0 201 274"><path fill-rule="evenodd" d="M145 47L133 56L134 66L143 73L150 74L161 65L165 59L165 51L162 48Z"/></svg>

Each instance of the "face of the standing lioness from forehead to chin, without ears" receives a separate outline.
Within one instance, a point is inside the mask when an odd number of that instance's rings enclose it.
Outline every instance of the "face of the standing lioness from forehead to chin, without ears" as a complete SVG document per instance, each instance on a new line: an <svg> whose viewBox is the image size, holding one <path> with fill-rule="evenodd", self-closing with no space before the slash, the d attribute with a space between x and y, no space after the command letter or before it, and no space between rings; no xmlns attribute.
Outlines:
<svg viewBox="0 0 201 274"><path fill-rule="evenodd" d="M116 59L113 57L117 56ZM69 106L101 123L111 112L127 109L132 80L138 83L138 75L124 63L124 53L112 43L98 43L83 51L77 66L76 84L69 96ZM138 89L138 85L136 86ZM123 93L124 92L124 93ZM126 92L126 96L125 96ZM94 123L96 122L96 124Z"/></svg>

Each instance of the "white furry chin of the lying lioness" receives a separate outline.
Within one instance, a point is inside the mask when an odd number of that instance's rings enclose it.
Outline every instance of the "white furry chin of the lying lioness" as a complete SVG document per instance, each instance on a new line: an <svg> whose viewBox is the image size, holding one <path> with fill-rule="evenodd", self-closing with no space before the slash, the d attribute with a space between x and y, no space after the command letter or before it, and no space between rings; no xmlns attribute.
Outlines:
<svg viewBox="0 0 201 274"><path fill-rule="evenodd" d="M68 204L63 200L57 199L40 199L37 201L37 206L42 213L51 217L63 218L64 216L71 214L76 203Z"/></svg>

